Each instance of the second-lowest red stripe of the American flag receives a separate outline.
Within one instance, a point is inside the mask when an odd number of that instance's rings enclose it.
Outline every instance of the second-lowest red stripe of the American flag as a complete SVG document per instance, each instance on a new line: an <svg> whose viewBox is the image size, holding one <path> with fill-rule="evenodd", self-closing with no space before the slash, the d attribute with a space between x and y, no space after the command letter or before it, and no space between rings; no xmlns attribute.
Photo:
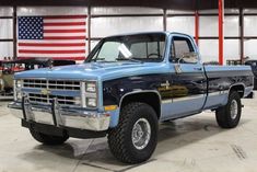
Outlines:
<svg viewBox="0 0 257 172"><path fill-rule="evenodd" d="M19 49L20 54L84 54L85 50L26 50Z"/></svg>

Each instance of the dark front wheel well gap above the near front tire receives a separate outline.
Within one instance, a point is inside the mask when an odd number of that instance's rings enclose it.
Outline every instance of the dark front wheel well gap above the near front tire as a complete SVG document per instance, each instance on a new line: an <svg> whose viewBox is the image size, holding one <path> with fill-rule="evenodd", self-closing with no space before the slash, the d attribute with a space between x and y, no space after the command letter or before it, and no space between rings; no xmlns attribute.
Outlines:
<svg viewBox="0 0 257 172"><path fill-rule="evenodd" d="M143 93L129 94L129 95L126 95L121 101L122 101L121 107L131 102L147 103L153 107L153 110L155 111L157 115L157 118L160 118L161 116L161 102L160 102L161 100L157 93L143 92Z"/></svg>

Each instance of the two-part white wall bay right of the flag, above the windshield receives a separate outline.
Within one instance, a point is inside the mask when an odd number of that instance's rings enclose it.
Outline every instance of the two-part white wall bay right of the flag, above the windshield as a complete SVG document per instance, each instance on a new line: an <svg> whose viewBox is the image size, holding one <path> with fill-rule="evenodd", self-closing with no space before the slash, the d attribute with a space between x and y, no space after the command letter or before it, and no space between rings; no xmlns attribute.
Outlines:
<svg viewBox="0 0 257 172"><path fill-rule="evenodd" d="M92 8L91 14L162 14L162 9L153 8ZM162 16L116 16L116 18L92 18L91 37L105 37L108 35L143 32L163 31Z"/></svg>

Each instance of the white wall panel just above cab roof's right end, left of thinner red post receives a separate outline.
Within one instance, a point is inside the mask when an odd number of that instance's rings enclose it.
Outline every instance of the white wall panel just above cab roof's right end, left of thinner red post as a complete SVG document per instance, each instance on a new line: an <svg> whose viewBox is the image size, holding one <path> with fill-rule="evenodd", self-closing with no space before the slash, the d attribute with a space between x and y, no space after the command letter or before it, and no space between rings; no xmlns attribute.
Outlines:
<svg viewBox="0 0 257 172"><path fill-rule="evenodd" d="M167 31L180 32L195 36L195 16L167 18Z"/></svg>

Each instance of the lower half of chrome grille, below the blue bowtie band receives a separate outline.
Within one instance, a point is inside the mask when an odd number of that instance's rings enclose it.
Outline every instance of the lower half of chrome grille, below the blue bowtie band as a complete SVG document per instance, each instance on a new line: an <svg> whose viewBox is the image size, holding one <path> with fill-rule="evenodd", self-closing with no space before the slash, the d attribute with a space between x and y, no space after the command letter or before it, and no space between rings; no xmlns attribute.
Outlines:
<svg viewBox="0 0 257 172"><path fill-rule="evenodd" d="M28 100L31 103L51 104L51 101L54 99L57 99L60 105L80 105L81 102L79 96L60 96L28 93Z"/></svg>

